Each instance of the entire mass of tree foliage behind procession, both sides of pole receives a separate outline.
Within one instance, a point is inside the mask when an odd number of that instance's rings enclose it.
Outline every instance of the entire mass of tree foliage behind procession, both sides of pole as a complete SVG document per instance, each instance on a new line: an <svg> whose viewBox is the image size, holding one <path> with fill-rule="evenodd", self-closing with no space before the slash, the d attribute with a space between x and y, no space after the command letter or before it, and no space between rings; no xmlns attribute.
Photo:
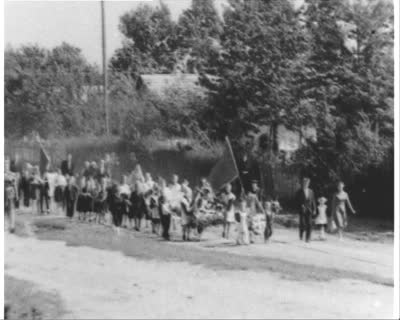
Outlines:
<svg viewBox="0 0 400 320"><path fill-rule="evenodd" d="M147 134L160 129L145 123L164 122L166 134L195 127L235 142L267 125L270 152L279 125L311 126L317 141L291 161L315 179L393 172L393 18L388 0L305 0L300 8L229 0L222 14L212 0L193 0L176 21L162 2L141 5L121 17L124 41L109 64L113 133ZM140 74L178 72L197 74L208 99L174 88L165 99L135 92ZM82 100L98 77L68 44L7 49L6 134L101 133L101 104Z"/></svg>

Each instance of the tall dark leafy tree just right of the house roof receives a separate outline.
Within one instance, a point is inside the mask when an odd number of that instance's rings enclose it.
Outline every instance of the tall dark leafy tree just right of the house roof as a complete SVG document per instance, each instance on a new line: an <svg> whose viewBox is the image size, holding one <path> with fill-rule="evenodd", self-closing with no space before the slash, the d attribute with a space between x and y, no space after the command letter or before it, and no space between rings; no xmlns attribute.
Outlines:
<svg viewBox="0 0 400 320"><path fill-rule="evenodd" d="M212 91L210 118L220 135L240 137L249 129L284 122L293 105L288 75L301 50L301 33L287 1L231 1L224 13L221 79ZM279 121L279 122L278 122Z"/></svg>

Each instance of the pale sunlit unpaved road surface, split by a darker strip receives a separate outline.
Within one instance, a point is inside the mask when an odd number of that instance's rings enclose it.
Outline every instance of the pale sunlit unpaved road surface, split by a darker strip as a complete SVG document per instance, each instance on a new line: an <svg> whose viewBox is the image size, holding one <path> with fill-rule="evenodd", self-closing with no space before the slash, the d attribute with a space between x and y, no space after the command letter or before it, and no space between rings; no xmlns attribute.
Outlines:
<svg viewBox="0 0 400 320"><path fill-rule="evenodd" d="M338 244L332 240L306 246L293 234L279 232L275 243L267 247L229 247L212 239L196 247L215 254L264 255L393 275L391 245L352 240ZM179 250L185 244L175 246ZM70 311L68 318L392 316L393 287L356 279L295 281L268 271L213 270L185 262L140 260L119 252L67 247L63 242L9 234L5 238L5 262L6 274L45 290L56 290Z"/></svg>

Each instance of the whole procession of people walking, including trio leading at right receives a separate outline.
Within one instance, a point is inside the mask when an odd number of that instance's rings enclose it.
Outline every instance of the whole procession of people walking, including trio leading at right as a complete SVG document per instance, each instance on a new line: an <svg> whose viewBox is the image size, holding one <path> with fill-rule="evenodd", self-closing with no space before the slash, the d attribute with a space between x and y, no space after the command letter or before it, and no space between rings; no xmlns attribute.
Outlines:
<svg viewBox="0 0 400 320"><path fill-rule="evenodd" d="M22 172L6 172L6 213L10 217L10 230L15 228L14 209L25 207L37 214L54 211L82 222L111 224L117 233L121 228L140 231L151 229L165 240L170 240L170 230L181 230L182 239L190 240L193 234L201 238L209 225L222 224L222 237L229 239L236 228L236 242L249 244L261 235L268 241L273 233L273 220L281 210L277 200L261 201L257 181L251 181L249 190L236 196L232 185L213 190L206 178L191 188L189 181L180 181L173 174L168 183L163 177L153 179L143 173L140 164L116 181L107 161L85 162L80 172L75 171L72 156L61 163L57 172L40 173L38 166L26 164ZM317 201L309 188L310 179L302 180L296 194L299 212L300 239L311 239L313 224L325 239L328 224L327 199ZM316 204L318 202L318 205ZM347 225L346 206L355 213L344 184L332 197L331 217L339 236Z"/></svg>

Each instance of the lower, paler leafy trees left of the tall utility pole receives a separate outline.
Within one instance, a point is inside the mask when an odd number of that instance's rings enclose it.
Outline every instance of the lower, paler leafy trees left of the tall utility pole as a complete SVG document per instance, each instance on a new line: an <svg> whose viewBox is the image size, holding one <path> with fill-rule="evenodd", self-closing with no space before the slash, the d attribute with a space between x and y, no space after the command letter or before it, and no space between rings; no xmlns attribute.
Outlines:
<svg viewBox="0 0 400 320"><path fill-rule="evenodd" d="M37 131L48 136L91 131L93 126L88 124L99 120L98 105L83 96L98 81L97 69L87 63L80 49L66 43L51 51L38 46L7 49L6 135Z"/></svg>

